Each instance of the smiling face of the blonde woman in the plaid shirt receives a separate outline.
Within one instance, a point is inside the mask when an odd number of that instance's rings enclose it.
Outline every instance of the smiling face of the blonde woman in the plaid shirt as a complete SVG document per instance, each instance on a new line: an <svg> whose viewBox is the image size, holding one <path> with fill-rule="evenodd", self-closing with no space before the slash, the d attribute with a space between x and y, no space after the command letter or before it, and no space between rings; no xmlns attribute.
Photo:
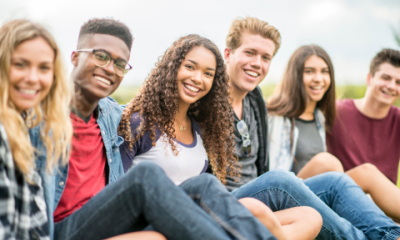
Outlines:
<svg viewBox="0 0 400 240"><path fill-rule="evenodd" d="M42 37L19 44L11 56L9 96L18 112L42 101L54 81L54 50Z"/></svg>

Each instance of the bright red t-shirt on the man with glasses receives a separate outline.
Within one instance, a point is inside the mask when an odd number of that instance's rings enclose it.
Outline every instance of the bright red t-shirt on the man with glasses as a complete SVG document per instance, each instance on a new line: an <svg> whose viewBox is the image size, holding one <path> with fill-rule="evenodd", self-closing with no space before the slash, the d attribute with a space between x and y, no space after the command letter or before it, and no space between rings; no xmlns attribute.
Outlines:
<svg viewBox="0 0 400 240"><path fill-rule="evenodd" d="M54 212L59 222L81 208L106 185L106 152L100 127L93 117L85 123L70 114L74 127L67 183Z"/></svg>

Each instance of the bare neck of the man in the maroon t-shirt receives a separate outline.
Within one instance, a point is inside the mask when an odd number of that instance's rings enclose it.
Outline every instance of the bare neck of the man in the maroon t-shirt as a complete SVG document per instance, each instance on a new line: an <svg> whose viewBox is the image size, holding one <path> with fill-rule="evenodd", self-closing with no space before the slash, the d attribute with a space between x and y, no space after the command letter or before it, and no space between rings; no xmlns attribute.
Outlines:
<svg viewBox="0 0 400 240"><path fill-rule="evenodd" d="M367 95L361 99L355 99L356 108L365 116L374 119L385 118L390 110L390 105L382 104Z"/></svg>

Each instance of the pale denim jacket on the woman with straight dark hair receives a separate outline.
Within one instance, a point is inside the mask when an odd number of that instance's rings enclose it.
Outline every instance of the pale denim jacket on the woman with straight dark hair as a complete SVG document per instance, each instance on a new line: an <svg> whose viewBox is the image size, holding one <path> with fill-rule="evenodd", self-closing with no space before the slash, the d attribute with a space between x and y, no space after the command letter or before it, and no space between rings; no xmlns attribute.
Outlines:
<svg viewBox="0 0 400 240"><path fill-rule="evenodd" d="M324 151L326 151L325 117L318 108L314 111L318 133L321 136ZM294 127L293 145L290 147L290 132L292 123L289 118L282 116L268 116L269 137L269 169L292 170L299 129Z"/></svg>

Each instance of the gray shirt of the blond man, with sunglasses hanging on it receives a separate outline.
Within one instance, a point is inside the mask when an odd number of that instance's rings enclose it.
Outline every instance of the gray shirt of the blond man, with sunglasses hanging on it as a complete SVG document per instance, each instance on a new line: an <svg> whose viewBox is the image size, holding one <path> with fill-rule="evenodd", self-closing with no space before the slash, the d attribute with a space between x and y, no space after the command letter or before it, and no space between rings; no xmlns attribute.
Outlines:
<svg viewBox="0 0 400 240"><path fill-rule="evenodd" d="M227 176L226 178L226 188L232 191L243 184L250 182L251 180L257 178L257 167L255 162L257 160L257 153L259 148L258 136L257 136L257 121L254 115L255 109L250 104L250 99L246 96L243 99L243 115L242 120L247 124L249 129L250 141L251 141L251 153L250 156L244 156L242 150L242 137L237 130L237 123L240 121L239 118L234 114L235 118L235 143L236 152L239 157L239 163L242 165L242 176L238 182Z"/></svg>

